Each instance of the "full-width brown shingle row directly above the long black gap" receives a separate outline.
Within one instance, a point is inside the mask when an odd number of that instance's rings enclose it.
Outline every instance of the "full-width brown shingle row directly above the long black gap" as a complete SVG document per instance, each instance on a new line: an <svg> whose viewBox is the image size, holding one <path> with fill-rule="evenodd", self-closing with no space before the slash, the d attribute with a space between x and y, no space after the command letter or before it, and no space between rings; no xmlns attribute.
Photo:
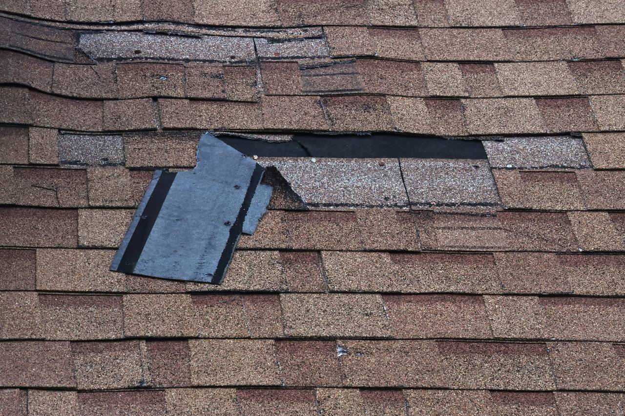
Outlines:
<svg viewBox="0 0 625 416"><path fill-rule="evenodd" d="M2 87L0 122L77 131L402 131L442 136L622 131L625 96L422 99L265 96L261 102L87 100ZM26 104L28 103L28 104ZM162 123L162 124L161 124Z"/></svg>

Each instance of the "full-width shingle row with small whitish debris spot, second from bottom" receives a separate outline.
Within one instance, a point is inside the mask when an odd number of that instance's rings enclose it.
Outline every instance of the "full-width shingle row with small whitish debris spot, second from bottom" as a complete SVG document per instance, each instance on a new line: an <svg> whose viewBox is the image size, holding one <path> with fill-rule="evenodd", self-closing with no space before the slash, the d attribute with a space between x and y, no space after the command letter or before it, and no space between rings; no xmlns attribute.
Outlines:
<svg viewBox="0 0 625 416"><path fill-rule="evenodd" d="M2 387L622 390L623 345L447 340L4 341Z"/></svg>

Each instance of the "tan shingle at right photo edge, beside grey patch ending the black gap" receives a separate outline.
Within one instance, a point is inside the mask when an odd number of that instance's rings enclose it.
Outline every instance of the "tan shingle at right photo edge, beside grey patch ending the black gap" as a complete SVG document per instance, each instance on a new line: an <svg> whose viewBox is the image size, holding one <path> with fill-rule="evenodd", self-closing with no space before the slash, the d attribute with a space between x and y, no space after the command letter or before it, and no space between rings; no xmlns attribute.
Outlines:
<svg viewBox="0 0 625 416"><path fill-rule="evenodd" d="M584 143L597 169L625 169L624 133L584 133Z"/></svg>

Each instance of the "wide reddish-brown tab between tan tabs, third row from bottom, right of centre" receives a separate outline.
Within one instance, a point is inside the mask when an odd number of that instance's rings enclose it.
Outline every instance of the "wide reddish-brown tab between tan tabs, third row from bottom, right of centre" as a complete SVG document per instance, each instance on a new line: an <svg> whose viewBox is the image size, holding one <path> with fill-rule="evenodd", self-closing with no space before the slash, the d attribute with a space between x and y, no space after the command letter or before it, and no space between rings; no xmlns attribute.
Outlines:
<svg viewBox="0 0 625 416"><path fill-rule="evenodd" d="M481 296L385 295L383 299L396 338L492 336Z"/></svg>

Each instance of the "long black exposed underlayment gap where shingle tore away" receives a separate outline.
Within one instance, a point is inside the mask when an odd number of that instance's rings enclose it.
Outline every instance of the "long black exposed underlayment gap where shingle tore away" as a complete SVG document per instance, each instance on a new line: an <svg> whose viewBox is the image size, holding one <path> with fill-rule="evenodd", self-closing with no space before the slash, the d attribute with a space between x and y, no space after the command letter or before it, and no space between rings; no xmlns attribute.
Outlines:
<svg viewBox="0 0 625 416"><path fill-rule="evenodd" d="M396 133L296 133L291 141L267 142L223 134L222 141L247 156L419 159L486 159L479 140L421 137Z"/></svg>

